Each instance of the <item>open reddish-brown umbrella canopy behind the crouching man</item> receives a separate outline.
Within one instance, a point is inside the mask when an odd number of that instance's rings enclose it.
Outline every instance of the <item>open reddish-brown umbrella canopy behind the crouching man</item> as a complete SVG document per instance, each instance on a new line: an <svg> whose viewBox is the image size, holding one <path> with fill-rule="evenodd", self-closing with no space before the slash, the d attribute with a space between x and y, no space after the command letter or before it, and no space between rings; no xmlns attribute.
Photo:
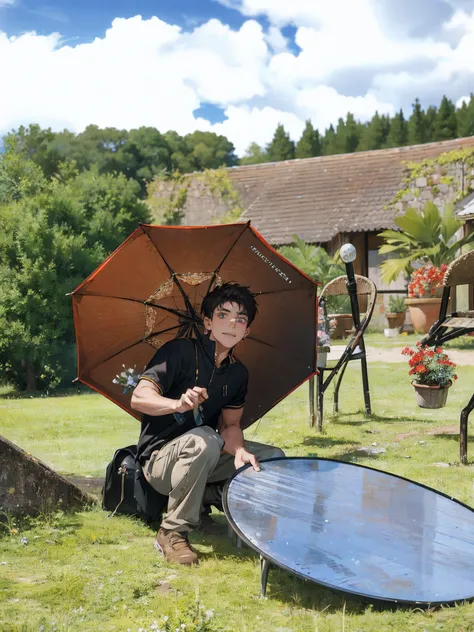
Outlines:
<svg viewBox="0 0 474 632"><path fill-rule="evenodd" d="M258 304L235 349L249 371L250 426L316 372L317 289L250 223L137 228L72 293L78 379L139 419L115 376L141 373L177 336L199 336L202 299L227 281L249 286Z"/></svg>

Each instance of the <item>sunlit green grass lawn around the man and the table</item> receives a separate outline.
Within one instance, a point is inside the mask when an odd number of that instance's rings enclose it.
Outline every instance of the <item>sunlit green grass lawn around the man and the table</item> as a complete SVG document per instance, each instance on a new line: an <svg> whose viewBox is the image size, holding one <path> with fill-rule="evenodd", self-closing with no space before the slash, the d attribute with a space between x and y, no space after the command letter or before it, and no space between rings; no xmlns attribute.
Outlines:
<svg viewBox="0 0 474 632"><path fill-rule="evenodd" d="M474 505L474 430L471 426L470 465L465 467L458 465L457 434L474 368L459 368L448 406L435 411L416 407L405 364L372 364L369 372L372 418L360 412L361 380L354 363L346 372L342 412L327 419L324 434L308 427L304 385L247 437L279 445L288 455L319 455L387 470ZM114 450L137 439L137 422L99 395L14 399L6 389L0 395L1 434L66 475L103 475ZM372 443L385 452L364 456L358 451ZM270 572L268 599L260 600L259 560L249 549L236 549L227 538L193 534L202 563L181 568L155 554L153 536L142 523L109 519L98 507L5 526L0 630L174 632L181 624L183 631L229 632L474 630L474 604L424 611L371 606L278 569Z"/></svg>

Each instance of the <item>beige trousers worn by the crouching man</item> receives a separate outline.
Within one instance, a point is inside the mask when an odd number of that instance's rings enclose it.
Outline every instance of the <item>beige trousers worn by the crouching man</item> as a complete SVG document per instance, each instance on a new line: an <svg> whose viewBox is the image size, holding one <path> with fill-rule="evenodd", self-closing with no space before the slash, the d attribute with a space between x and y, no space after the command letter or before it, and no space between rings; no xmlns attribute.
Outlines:
<svg viewBox="0 0 474 632"><path fill-rule="evenodd" d="M253 441L246 441L245 446L257 460L285 456L279 448ZM150 485L169 496L163 529L191 531L199 525L203 501L215 499L213 486L206 494L206 485L225 481L235 471L234 457L221 454L223 447L224 440L215 430L201 426L173 439L144 463Z"/></svg>

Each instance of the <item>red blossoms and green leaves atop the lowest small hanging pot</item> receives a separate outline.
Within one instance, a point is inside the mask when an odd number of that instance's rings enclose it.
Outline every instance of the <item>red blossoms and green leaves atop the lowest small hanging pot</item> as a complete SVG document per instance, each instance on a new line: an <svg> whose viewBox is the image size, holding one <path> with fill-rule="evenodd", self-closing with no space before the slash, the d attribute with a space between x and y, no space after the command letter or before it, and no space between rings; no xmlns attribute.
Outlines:
<svg viewBox="0 0 474 632"><path fill-rule="evenodd" d="M418 384L442 388L449 386L452 380L458 379L456 365L451 362L441 347L430 349L422 347L421 342L417 342L417 349L405 347L402 353L409 356L410 370L408 375L413 375L414 381Z"/></svg>

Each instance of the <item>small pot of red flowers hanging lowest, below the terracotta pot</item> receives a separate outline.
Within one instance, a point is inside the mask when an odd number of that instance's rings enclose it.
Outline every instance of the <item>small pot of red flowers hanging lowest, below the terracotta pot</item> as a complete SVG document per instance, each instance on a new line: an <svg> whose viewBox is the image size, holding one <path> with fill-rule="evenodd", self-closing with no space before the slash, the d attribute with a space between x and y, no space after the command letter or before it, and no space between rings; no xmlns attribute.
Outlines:
<svg viewBox="0 0 474 632"><path fill-rule="evenodd" d="M420 408L443 408L446 406L448 389L453 380L457 380L456 365L451 362L442 347L421 346L417 342L416 349L405 347L403 355L409 357L409 375L413 375L413 387L416 403Z"/></svg>

